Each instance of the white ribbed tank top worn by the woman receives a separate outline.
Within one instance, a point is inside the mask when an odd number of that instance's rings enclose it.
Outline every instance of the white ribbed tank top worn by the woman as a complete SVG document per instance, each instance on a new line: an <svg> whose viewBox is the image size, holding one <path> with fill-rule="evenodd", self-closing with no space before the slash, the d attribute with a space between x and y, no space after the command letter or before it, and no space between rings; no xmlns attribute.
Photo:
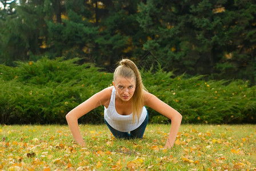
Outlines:
<svg viewBox="0 0 256 171"><path fill-rule="evenodd" d="M133 113L130 115L120 115L115 110L115 87L112 89L111 99L109 103L109 107L104 107L104 118L109 123L111 127L117 129L117 131L121 132L129 132L137 129L143 121L146 119L147 116L147 109L146 107L142 108L141 117L138 119L135 116L134 123L133 123Z"/></svg>

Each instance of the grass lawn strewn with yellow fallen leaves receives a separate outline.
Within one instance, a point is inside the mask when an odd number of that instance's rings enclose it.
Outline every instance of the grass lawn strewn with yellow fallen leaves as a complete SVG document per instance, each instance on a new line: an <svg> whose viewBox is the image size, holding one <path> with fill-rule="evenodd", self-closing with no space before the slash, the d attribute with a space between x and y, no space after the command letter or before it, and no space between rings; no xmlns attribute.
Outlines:
<svg viewBox="0 0 256 171"><path fill-rule="evenodd" d="M79 125L86 147L67 125L0 125L0 170L256 170L256 125L149 124L142 140L117 140L106 125Z"/></svg>

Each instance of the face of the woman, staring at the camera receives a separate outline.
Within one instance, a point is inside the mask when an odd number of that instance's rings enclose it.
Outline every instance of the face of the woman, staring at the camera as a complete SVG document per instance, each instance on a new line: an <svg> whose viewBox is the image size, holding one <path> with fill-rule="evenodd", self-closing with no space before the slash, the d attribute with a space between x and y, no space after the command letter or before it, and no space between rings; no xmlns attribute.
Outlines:
<svg viewBox="0 0 256 171"><path fill-rule="evenodd" d="M115 89L117 90L117 95L122 101L129 101L133 97L136 82L134 78L124 78L118 76L113 82Z"/></svg>

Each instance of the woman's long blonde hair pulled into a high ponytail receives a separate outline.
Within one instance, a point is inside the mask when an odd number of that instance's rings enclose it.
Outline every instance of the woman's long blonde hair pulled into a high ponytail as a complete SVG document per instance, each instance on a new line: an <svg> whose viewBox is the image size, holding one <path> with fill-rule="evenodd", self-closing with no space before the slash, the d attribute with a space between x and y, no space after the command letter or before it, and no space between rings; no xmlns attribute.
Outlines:
<svg viewBox="0 0 256 171"><path fill-rule="evenodd" d="M132 97L132 106L133 106L133 122L135 120L135 116L139 121L139 117L141 117L141 112L144 104L143 100L143 86L141 74L137 66L129 59L122 59L119 62L119 66L115 69L114 72L114 82L118 76L122 76L124 78L134 78L136 85L135 91Z"/></svg>

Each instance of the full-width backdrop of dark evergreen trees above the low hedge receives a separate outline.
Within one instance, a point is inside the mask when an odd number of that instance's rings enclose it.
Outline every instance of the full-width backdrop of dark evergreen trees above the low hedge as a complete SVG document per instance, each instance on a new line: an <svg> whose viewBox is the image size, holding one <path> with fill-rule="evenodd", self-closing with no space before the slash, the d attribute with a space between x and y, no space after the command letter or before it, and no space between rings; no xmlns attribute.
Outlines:
<svg viewBox="0 0 256 171"><path fill-rule="evenodd" d="M111 71L154 54L166 71L255 84L256 1L6 1L0 62L83 58ZM86 56L86 58L84 58Z"/></svg>

